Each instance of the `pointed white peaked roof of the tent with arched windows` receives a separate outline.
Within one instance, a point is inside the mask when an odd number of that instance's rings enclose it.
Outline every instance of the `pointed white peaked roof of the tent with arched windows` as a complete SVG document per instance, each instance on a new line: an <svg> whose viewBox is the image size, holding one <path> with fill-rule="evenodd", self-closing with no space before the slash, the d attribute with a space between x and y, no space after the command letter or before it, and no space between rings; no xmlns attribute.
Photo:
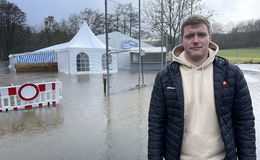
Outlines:
<svg viewBox="0 0 260 160"><path fill-rule="evenodd" d="M81 25L78 33L67 43L61 43L38 51L57 50L64 48L99 48L105 49L106 45L101 42L90 30L86 21Z"/></svg>

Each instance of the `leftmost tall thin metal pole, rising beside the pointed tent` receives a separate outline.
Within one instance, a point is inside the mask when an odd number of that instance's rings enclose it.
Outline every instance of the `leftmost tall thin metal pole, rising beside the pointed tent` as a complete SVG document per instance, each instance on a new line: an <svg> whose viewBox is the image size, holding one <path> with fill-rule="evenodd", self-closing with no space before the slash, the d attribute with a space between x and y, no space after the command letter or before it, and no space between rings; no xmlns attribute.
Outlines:
<svg viewBox="0 0 260 160"><path fill-rule="evenodd" d="M106 25L106 68L107 68L107 96L110 96L109 85L109 53L108 53L108 26L107 26L107 0L105 0L105 25Z"/></svg>

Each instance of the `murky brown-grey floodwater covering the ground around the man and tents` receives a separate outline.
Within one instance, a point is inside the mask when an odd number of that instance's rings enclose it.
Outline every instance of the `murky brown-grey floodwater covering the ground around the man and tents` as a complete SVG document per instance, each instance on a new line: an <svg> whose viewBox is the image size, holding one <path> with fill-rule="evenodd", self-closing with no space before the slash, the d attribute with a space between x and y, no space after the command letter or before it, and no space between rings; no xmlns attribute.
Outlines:
<svg viewBox="0 0 260 160"><path fill-rule="evenodd" d="M260 131L260 66L244 71ZM137 73L112 74L110 98L101 75L10 73L0 68L0 85L60 80L63 99L56 107L0 113L0 155L6 160L144 160L147 117L156 72L133 89ZM259 126L259 127L258 127ZM260 135L257 135L260 146ZM260 152L258 150L258 155Z"/></svg>

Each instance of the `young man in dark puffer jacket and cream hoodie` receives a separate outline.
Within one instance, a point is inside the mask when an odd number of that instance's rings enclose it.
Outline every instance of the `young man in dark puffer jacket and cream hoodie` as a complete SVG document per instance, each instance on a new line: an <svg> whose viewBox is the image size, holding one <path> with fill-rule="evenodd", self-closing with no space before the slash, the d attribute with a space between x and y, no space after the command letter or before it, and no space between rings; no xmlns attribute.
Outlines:
<svg viewBox="0 0 260 160"><path fill-rule="evenodd" d="M211 27L191 16L173 62L155 79L149 160L256 160L254 115L240 69L216 56Z"/></svg>

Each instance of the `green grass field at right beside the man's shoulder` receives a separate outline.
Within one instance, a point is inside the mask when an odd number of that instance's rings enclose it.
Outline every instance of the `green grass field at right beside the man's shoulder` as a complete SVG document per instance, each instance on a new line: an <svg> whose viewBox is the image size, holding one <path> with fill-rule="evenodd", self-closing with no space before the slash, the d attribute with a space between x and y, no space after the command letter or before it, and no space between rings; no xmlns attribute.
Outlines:
<svg viewBox="0 0 260 160"><path fill-rule="evenodd" d="M260 63L260 48L220 50L218 55L232 63Z"/></svg>

